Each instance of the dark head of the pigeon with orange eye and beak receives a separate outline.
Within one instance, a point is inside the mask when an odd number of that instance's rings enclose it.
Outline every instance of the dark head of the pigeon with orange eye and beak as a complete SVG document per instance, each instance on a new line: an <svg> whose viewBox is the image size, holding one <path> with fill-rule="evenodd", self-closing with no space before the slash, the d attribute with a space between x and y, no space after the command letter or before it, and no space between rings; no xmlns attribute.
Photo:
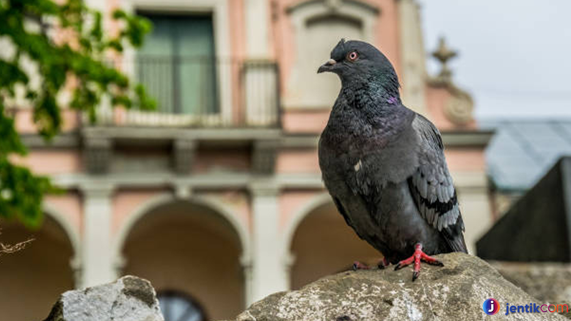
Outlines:
<svg viewBox="0 0 571 321"><path fill-rule="evenodd" d="M345 84L376 83L398 95L399 79L391 62L374 46L363 41L341 39L331 51L331 59L317 73L335 73Z"/></svg>

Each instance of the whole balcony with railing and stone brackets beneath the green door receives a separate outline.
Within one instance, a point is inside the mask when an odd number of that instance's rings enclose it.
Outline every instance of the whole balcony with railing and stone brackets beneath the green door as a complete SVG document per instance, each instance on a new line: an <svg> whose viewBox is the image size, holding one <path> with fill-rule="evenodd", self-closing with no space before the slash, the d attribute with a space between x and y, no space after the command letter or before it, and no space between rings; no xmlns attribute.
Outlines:
<svg viewBox="0 0 571 321"><path fill-rule="evenodd" d="M143 83L158 106L101 106L95 124L84 118L87 172L130 171L144 159L147 172L186 175L197 153L223 150L250 153L253 172L274 171L281 133L276 63L139 55L117 65Z"/></svg>

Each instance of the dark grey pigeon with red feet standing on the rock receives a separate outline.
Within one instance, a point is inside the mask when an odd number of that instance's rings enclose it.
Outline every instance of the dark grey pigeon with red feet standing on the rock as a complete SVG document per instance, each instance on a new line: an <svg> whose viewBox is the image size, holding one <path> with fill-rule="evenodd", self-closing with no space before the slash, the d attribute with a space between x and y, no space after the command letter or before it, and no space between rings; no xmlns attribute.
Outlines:
<svg viewBox="0 0 571 321"><path fill-rule="evenodd" d="M401 104L391 62L372 45L344 39L317 73L341 90L319 140L319 166L345 222L383 253L384 268L467 252L464 222L439 131ZM368 268L355 262L354 268Z"/></svg>

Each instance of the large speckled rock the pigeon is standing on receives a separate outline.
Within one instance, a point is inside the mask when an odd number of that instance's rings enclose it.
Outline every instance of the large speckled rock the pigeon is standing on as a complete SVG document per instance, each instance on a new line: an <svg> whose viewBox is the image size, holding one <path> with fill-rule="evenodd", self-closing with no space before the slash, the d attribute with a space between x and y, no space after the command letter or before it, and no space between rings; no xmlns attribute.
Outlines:
<svg viewBox="0 0 571 321"><path fill-rule="evenodd" d="M510 313L506 303L544 304L505 280L475 256L437 255L444 267L359 270L317 280L297 291L278 292L252 304L236 321L484 320L482 304L500 303L494 320L566 320L557 313Z"/></svg>

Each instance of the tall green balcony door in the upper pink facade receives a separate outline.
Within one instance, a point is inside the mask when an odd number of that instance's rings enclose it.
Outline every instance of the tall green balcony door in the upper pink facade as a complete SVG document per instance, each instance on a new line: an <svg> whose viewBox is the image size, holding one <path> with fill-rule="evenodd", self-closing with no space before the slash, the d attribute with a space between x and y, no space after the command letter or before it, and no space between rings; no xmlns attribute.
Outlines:
<svg viewBox="0 0 571 321"><path fill-rule="evenodd" d="M153 29L138 53L137 73L158 110L217 113L212 15L139 14L150 19Z"/></svg>

